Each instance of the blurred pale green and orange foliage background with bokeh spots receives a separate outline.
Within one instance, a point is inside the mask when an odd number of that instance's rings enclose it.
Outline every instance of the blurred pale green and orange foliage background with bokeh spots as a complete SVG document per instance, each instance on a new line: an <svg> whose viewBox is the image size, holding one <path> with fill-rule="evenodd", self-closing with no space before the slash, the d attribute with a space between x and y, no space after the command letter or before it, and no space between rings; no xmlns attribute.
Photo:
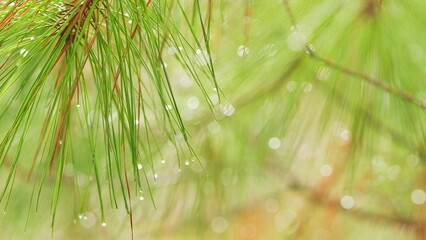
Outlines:
<svg viewBox="0 0 426 240"><path fill-rule="evenodd" d="M192 1L179 2L194 11ZM210 84L200 91L198 80L209 82L210 75L188 75L175 57L178 46L167 43L163 60L196 156L177 154L162 135L158 148L140 159L147 178L142 192L131 184L128 199L135 239L425 239L426 2L221 0L199 6L202 18L211 14L211 52L194 46L188 62L203 68L209 63L199 56L211 57L220 89ZM50 76L49 84L54 81ZM3 99L2 108L9 106ZM23 101L15 99L3 113L2 136ZM72 157L64 162L53 230L54 173L46 176L38 211L24 231L33 197L27 175L45 115L39 112L13 192L2 201L0 239L49 239L52 232L53 239L131 238L123 201L118 208L111 201L103 147L96 150L101 226L91 140L79 124L90 109L71 111ZM159 135L163 127L151 125ZM173 138L183 141L179 134ZM130 161L124 165L129 171L137 166ZM2 182L10 169L6 160Z"/></svg>

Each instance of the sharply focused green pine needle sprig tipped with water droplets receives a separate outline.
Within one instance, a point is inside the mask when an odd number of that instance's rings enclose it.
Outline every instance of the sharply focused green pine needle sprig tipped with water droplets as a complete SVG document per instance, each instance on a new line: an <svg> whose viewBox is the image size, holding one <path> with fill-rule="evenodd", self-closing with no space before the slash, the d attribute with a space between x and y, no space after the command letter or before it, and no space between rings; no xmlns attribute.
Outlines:
<svg viewBox="0 0 426 240"><path fill-rule="evenodd" d="M162 155L163 142L171 142L178 159L196 157L166 58L197 82L214 109L205 90L219 89L209 47L212 2L207 11L201 4L198 0L3 2L0 166L11 161L11 167L0 202L10 197L17 166L30 166L28 180L34 188L28 218L38 209L46 180L53 178L53 228L64 167L72 163L93 176L102 222L103 186L108 184L111 206L123 203L132 223L131 198L145 191L151 195L150 183L157 178L153 161ZM174 59L165 57L170 51ZM22 104L17 108L18 100ZM32 126L43 115L39 140L30 143L27 136L34 134ZM10 125L7 118L13 119ZM90 152L88 159L83 158L84 151ZM25 162L28 153L34 154L32 163ZM88 185L85 188L80 191L87 191ZM80 196L81 214L85 198ZM152 195L151 199L154 203Z"/></svg>

